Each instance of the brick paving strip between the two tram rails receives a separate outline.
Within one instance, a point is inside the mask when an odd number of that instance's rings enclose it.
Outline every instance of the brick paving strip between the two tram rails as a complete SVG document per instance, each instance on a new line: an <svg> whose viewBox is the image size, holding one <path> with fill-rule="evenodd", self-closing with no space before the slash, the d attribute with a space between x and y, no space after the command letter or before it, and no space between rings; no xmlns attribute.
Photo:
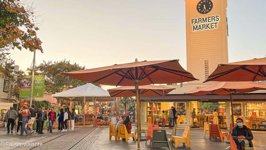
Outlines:
<svg viewBox="0 0 266 150"><path fill-rule="evenodd" d="M68 134L62 135L44 143L42 147L36 147L34 150L42 150L42 149L53 149L53 150L62 150L69 149L85 136L87 136L90 132L92 132L95 127L81 127L76 129L75 131L69 132ZM36 142L35 142L36 143Z"/></svg>

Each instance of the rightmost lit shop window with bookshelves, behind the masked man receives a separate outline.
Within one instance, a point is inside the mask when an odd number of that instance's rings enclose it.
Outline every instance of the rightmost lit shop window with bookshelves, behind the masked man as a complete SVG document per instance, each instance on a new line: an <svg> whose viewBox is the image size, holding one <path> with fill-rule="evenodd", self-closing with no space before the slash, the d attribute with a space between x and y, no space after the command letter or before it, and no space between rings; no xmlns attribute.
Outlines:
<svg viewBox="0 0 266 150"><path fill-rule="evenodd" d="M246 125L250 129L265 129L265 102L246 102Z"/></svg>

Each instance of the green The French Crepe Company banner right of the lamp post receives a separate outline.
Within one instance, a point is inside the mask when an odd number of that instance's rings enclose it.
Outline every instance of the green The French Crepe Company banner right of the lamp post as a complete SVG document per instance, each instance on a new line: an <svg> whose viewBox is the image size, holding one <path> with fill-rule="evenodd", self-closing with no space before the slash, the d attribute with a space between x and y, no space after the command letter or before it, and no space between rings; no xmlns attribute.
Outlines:
<svg viewBox="0 0 266 150"><path fill-rule="evenodd" d="M43 97L45 76L34 76L32 97Z"/></svg>

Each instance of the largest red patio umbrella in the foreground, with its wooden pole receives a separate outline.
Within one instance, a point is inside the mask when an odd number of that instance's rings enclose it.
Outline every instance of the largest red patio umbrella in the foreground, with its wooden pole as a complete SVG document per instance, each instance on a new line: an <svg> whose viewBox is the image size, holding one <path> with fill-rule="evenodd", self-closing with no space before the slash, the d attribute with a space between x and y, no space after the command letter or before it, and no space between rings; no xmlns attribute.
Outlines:
<svg viewBox="0 0 266 150"><path fill-rule="evenodd" d="M137 111L139 108L139 85L181 83L197 80L178 63L179 60L140 61L101 68L61 73L83 81L115 86L135 86ZM140 135L140 117L137 117ZM138 138L138 149L140 143Z"/></svg>

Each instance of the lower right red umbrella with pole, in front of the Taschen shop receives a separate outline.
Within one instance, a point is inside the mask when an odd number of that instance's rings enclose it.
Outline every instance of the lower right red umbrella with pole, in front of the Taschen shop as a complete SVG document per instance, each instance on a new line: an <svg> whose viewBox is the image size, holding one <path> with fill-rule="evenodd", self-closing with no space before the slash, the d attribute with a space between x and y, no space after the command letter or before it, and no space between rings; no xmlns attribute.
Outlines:
<svg viewBox="0 0 266 150"><path fill-rule="evenodd" d="M232 93L247 93L256 90L266 90L266 84L258 82L216 82L214 84L207 85L202 88L192 90L190 92L186 92L185 94L192 94L192 95L205 95L209 93L219 94L219 95L230 94L232 124L234 124Z"/></svg>

